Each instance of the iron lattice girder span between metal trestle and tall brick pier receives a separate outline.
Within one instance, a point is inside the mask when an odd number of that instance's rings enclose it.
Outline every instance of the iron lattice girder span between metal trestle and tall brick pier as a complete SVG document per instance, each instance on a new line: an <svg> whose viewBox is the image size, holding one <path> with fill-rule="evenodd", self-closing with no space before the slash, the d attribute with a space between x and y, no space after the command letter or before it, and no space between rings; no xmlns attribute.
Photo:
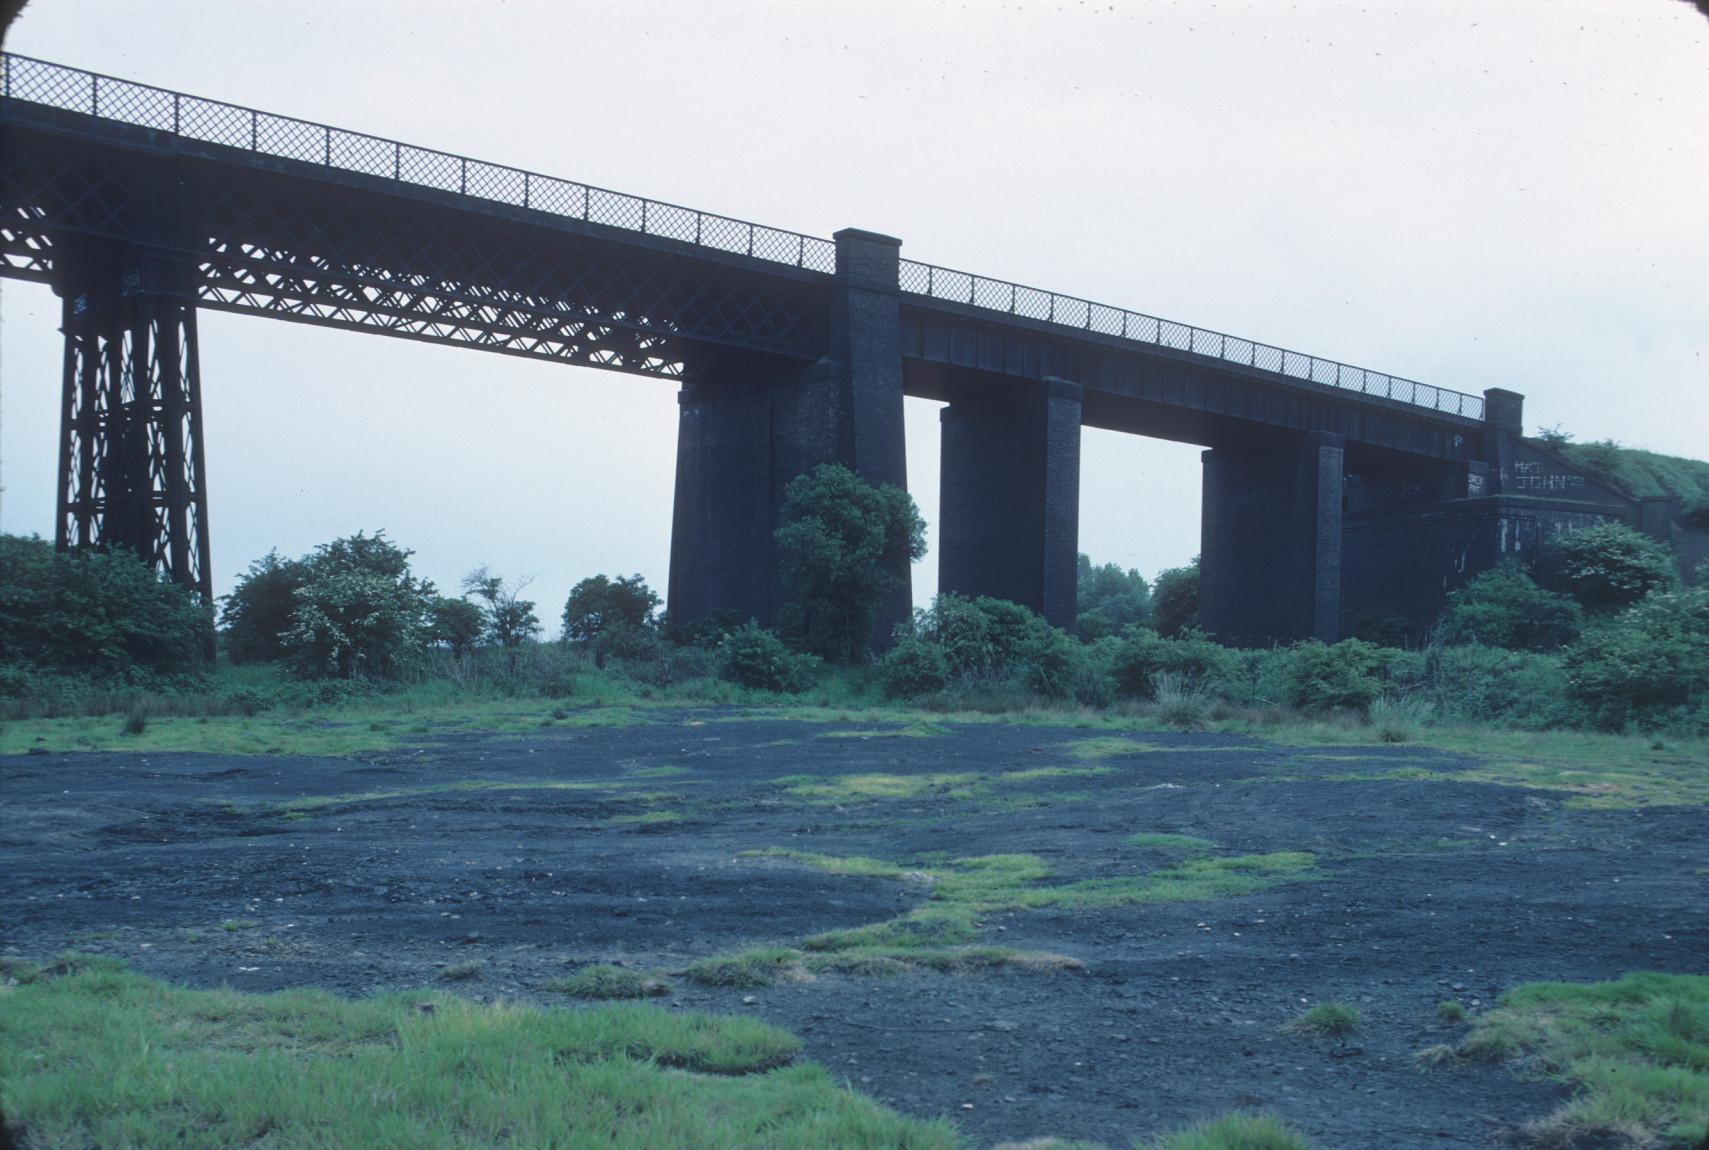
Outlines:
<svg viewBox="0 0 1709 1150"><path fill-rule="evenodd" d="M810 302L761 277L301 191L215 185L207 306L651 376L680 376L687 342L812 354Z"/></svg>

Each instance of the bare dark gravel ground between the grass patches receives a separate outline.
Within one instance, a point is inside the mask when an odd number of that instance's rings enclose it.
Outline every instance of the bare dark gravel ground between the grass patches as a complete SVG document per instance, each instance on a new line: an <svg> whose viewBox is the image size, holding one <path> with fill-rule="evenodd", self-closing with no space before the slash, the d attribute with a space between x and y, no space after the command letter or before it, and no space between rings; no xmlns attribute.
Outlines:
<svg viewBox="0 0 1709 1150"><path fill-rule="evenodd" d="M562 1001L543 984L581 962L680 971L921 899L743 849L1032 853L1065 878L1162 865L1123 844L1142 830L1316 853L1319 882L1260 895L984 924L988 942L1065 953L1084 972L820 976L755 991L678 979L668 1000L755 1012L851 1085L954 1116L981 1145L1058 1135L1111 1147L1232 1107L1277 1114L1326 1148L1497 1145L1560 1094L1489 1068L1413 1070L1417 1049L1458 1034L1436 1022L1437 1001L1477 1010L1521 981L1709 969L1700 808L1583 812L1547 791L1391 777L1465 767L1454 755L1330 757L1215 735L1138 735L1160 750L1101 760L1114 774L1003 784L1003 772L1084 766L1070 743L1089 733L829 738L836 725L730 718L448 736L366 760L5 757L0 947L116 953L193 986L345 995L429 984L482 959L480 979L455 989ZM844 805L774 783L865 772L998 781L974 798ZM470 779L506 786L296 818L265 807ZM636 822L660 810L678 820ZM1277 1032L1323 1000L1357 1005L1359 1034Z"/></svg>

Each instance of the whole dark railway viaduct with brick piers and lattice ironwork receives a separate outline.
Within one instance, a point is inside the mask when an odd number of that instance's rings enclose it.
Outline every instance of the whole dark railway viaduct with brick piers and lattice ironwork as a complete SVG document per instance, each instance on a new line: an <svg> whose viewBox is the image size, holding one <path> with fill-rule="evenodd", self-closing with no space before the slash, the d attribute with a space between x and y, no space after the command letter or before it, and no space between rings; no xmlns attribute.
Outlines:
<svg viewBox="0 0 1709 1150"><path fill-rule="evenodd" d="M0 58L0 275L53 285L60 547L210 596L205 308L658 376L680 388L668 605L771 620L783 485L906 484L902 398L943 402L940 590L1075 620L1080 429L1205 448L1201 622L1333 641L1427 620L1552 530L1670 508L1465 395L832 239ZM1131 501L1135 530L1162 492ZM906 572L901 572L906 574ZM906 617L906 586L880 627Z"/></svg>

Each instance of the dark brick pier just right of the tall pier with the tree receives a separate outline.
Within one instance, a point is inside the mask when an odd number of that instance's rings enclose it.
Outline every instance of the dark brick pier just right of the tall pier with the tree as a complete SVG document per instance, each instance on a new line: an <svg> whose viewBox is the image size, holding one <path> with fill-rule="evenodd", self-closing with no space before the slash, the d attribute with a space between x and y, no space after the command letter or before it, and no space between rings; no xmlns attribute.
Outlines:
<svg viewBox="0 0 1709 1150"><path fill-rule="evenodd" d="M943 408L938 591L1075 624L1080 386L1066 379Z"/></svg>

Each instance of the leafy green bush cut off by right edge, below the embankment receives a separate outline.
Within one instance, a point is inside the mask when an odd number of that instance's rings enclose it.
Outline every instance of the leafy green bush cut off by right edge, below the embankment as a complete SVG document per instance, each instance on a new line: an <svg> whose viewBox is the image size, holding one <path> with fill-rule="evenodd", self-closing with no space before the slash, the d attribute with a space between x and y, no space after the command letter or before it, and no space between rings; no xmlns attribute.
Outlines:
<svg viewBox="0 0 1709 1150"><path fill-rule="evenodd" d="M1596 726L1663 723L1709 694L1709 590L1651 595L1588 631L1564 661Z"/></svg>

